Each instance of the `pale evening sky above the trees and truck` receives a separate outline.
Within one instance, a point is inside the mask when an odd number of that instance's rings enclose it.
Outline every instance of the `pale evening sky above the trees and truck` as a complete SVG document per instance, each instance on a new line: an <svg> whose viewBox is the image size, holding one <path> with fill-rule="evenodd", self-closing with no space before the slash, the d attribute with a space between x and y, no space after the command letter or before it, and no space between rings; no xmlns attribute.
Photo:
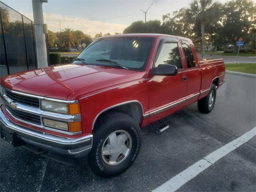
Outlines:
<svg viewBox="0 0 256 192"><path fill-rule="evenodd" d="M14 10L34 20L32 0L1 0ZM147 20L161 20L162 15L188 7L192 0L48 0L43 3L44 23L48 30L64 28L95 34L122 33L132 22L143 20L151 3ZM219 0L226 2L227 0Z"/></svg>

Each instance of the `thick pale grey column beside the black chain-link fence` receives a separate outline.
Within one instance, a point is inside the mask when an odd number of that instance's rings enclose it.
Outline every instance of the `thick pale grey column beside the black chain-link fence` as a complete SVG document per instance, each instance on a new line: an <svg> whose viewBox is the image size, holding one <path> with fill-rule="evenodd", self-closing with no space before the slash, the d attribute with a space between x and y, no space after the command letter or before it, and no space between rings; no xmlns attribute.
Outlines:
<svg viewBox="0 0 256 192"><path fill-rule="evenodd" d="M38 68L44 68L48 66L42 8L43 2L47 2L47 0L32 0Z"/></svg>

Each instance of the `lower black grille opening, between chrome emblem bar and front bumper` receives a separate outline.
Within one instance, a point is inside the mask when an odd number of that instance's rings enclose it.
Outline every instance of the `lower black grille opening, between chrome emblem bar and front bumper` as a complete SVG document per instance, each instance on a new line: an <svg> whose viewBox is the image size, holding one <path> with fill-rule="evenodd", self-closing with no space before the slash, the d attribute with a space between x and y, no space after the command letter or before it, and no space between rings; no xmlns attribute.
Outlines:
<svg viewBox="0 0 256 192"><path fill-rule="evenodd" d="M41 125L41 119L39 115L34 115L34 114L30 114L24 111L20 111L20 110L14 110L12 108L10 108L9 106L6 106L7 110L10 112L10 114L12 114L12 116L23 120L25 122L30 122L33 124L37 124L37 125Z"/></svg>

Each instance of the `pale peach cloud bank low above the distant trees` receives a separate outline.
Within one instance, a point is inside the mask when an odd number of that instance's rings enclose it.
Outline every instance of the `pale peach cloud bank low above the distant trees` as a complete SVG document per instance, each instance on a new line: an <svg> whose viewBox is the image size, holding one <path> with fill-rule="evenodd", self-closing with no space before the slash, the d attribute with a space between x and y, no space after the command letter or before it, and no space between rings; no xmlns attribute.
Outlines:
<svg viewBox="0 0 256 192"><path fill-rule="evenodd" d="M26 17L33 19L32 13L27 13L20 11L21 14ZM81 30L85 34L90 34L92 37L95 34L102 32L102 34L110 33L114 34L115 32L123 32L127 25L108 23L104 21L96 20L86 20L82 17L72 17L72 16L62 16L58 14L46 14L44 13L44 23L47 24L48 30L53 32L60 31L64 28L71 28L73 30Z"/></svg>

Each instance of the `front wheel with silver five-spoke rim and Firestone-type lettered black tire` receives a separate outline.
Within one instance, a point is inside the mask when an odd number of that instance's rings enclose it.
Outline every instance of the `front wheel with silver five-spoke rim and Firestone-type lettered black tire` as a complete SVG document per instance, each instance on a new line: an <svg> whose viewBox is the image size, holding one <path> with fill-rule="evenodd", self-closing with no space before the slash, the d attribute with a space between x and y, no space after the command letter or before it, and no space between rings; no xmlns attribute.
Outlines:
<svg viewBox="0 0 256 192"><path fill-rule="evenodd" d="M130 116L111 112L100 118L88 157L91 170L110 177L124 172L140 151L140 127Z"/></svg>

